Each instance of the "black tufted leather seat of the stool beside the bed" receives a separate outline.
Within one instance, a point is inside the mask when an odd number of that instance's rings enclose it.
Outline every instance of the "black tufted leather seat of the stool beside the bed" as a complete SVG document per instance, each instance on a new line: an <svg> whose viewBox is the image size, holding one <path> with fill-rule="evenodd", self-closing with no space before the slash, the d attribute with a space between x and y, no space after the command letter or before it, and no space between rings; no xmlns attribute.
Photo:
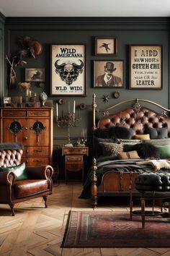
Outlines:
<svg viewBox="0 0 170 256"><path fill-rule="evenodd" d="M139 174L135 179L135 188L140 191L170 192L170 173L151 172Z"/></svg>

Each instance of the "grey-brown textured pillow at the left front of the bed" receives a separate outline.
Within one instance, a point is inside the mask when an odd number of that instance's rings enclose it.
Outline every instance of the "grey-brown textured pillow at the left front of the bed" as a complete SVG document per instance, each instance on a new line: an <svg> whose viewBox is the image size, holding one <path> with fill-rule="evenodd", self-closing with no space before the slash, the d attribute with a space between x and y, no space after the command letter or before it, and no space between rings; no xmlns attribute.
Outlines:
<svg viewBox="0 0 170 256"><path fill-rule="evenodd" d="M113 156L117 155L118 153L122 152L123 145L111 142L99 142L102 146L102 154L104 156Z"/></svg>

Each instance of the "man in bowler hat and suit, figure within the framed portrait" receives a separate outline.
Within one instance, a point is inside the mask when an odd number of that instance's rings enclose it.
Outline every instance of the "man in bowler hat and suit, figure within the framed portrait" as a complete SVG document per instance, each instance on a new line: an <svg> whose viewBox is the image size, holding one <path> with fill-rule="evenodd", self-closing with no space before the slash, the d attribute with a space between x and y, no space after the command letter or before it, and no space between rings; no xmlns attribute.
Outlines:
<svg viewBox="0 0 170 256"><path fill-rule="evenodd" d="M109 86L122 86L122 79L112 74L115 72L115 64L111 61L106 62L104 66L104 74L99 75L96 79L95 86L109 87Z"/></svg>

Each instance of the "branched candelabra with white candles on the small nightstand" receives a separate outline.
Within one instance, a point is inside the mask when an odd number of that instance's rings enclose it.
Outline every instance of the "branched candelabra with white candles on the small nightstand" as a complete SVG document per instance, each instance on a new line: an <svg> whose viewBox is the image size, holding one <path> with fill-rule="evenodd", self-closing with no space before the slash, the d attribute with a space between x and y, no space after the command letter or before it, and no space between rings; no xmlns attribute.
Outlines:
<svg viewBox="0 0 170 256"><path fill-rule="evenodd" d="M73 144L70 140L70 127L77 127L79 124L79 121L81 121L81 116L76 116L76 101L73 101L73 112L70 108L70 102L68 101L68 113L63 114L62 110L62 116L58 116L58 103L56 103L56 122L58 127L65 128L67 127L68 133L67 133L67 143L65 146L73 147Z"/></svg>

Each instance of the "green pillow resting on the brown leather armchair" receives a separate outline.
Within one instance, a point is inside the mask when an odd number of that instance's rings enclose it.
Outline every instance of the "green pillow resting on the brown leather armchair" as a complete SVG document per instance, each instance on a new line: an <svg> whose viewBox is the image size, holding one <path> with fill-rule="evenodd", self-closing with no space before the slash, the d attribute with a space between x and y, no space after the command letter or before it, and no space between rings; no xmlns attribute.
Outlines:
<svg viewBox="0 0 170 256"><path fill-rule="evenodd" d="M29 179L29 176L27 174L25 163L19 164L19 166L9 166L9 167L1 167L1 171L13 171L14 174L17 176L16 181L21 181L22 179Z"/></svg>

